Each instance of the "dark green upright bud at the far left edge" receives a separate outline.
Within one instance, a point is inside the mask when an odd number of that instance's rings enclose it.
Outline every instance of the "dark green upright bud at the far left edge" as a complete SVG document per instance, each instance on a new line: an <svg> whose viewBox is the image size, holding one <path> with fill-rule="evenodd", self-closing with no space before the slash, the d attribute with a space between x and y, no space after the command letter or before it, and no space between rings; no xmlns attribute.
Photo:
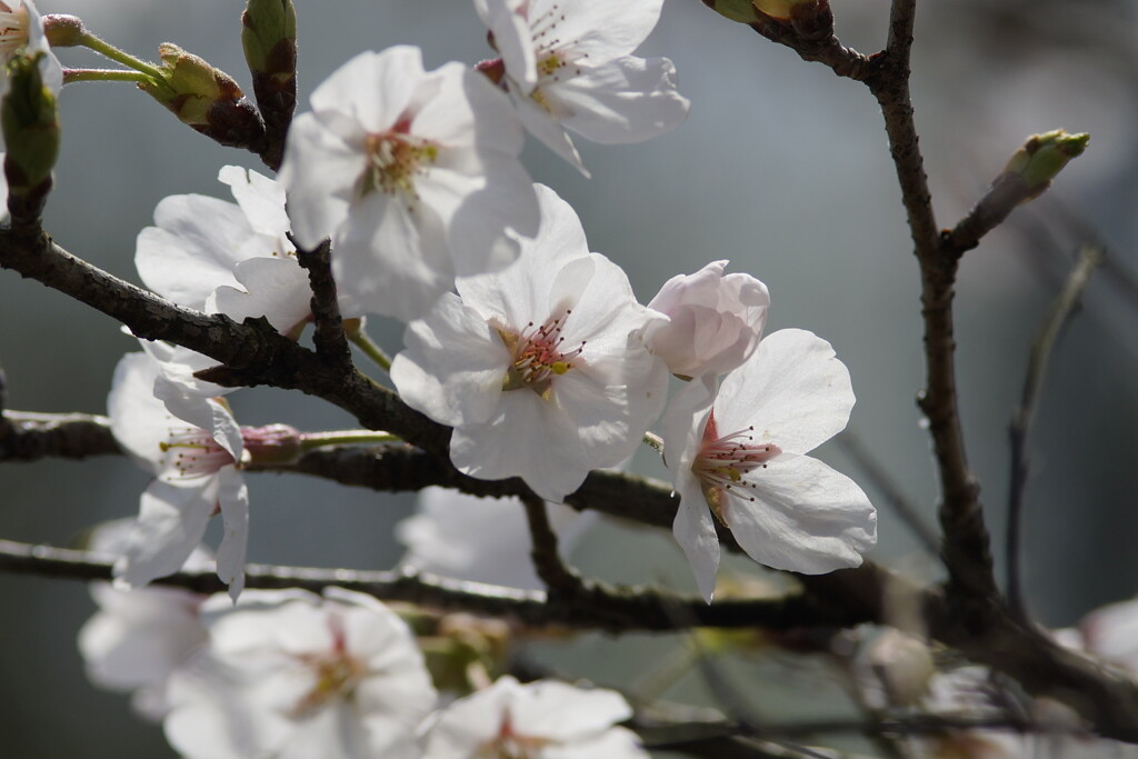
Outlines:
<svg viewBox="0 0 1138 759"><path fill-rule="evenodd" d="M0 107L0 124L8 150L5 175L9 208L15 217L39 215L59 155L56 96L44 85L40 65L46 56L43 52L17 55L7 66L8 91ZM27 208L28 201L35 207Z"/></svg>

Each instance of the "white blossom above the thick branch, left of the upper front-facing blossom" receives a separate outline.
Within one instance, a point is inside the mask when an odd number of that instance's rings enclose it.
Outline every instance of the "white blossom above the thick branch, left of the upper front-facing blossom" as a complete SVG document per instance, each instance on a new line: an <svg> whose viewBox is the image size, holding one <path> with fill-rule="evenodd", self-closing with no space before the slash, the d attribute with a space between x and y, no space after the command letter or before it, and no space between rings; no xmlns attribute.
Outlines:
<svg viewBox="0 0 1138 759"><path fill-rule="evenodd" d="M134 264L151 290L188 308L242 321L264 316L286 335L312 320L308 273L288 239L284 188L239 166L217 179L237 205L201 195L174 195L155 208L156 226L138 237ZM341 295L345 315L362 313Z"/></svg>

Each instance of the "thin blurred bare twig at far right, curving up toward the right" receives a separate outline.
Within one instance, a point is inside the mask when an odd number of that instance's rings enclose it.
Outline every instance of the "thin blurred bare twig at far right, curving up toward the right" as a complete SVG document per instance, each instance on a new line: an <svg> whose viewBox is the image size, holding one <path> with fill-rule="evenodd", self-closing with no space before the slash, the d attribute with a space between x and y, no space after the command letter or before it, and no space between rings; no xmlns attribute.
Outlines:
<svg viewBox="0 0 1138 759"><path fill-rule="evenodd" d="M1012 614L1020 621L1029 620L1026 600L1023 593L1022 525L1023 492L1028 484L1028 435L1039 406L1039 396L1047 374L1047 363L1058 341L1063 328L1070 323L1095 269L1103 262L1103 249L1083 246L1079 259L1067 277L1044 323L1040 324L1031 344L1028 371L1023 380L1020 407L1012 416L1008 437L1012 444L1012 482L1007 503L1007 599Z"/></svg>

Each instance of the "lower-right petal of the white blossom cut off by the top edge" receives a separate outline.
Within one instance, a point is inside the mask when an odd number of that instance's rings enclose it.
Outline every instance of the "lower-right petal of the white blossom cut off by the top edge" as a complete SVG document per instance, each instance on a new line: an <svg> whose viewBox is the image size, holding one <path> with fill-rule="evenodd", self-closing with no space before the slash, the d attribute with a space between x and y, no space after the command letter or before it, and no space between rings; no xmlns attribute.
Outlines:
<svg viewBox="0 0 1138 759"><path fill-rule="evenodd" d="M618 58L543 86L559 121L601 145L643 142L679 126L691 102L667 58Z"/></svg>

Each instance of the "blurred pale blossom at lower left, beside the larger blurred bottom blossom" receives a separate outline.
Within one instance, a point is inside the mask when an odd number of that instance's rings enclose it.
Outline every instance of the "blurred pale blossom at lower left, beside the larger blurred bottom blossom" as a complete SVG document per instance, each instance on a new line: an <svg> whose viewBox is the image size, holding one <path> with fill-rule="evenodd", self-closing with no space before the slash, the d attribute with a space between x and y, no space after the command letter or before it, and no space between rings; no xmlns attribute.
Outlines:
<svg viewBox="0 0 1138 759"><path fill-rule="evenodd" d="M126 547L130 520L96 530L88 548L119 554ZM197 547L184 569L213 568L207 551ZM79 650L88 678L109 691L130 692L131 706L145 719L160 721L170 710L166 684L171 674L206 642L198 620L200 593L152 586L118 591L91 583L99 611L79 632Z"/></svg>

